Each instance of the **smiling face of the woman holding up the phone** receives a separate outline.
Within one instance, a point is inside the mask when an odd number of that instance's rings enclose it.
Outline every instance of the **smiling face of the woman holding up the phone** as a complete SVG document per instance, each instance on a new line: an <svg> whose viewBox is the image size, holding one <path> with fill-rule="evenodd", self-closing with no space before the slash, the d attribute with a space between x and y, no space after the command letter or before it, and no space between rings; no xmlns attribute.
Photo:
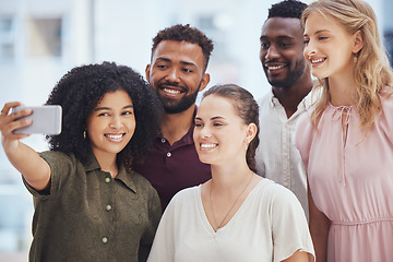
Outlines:
<svg viewBox="0 0 393 262"><path fill-rule="evenodd" d="M132 100L123 90L106 93L87 117L87 136L97 159L122 151L134 130Z"/></svg>

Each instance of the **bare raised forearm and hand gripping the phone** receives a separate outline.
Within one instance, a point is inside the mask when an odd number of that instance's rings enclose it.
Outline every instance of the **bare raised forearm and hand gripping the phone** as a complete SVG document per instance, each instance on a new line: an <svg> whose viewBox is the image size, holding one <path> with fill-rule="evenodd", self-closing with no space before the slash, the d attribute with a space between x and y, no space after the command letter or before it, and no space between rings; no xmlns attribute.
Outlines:
<svg viewBox="0 0 393 262"><path fill-rule="evenodd" d="M32 120L17 120L32 114L32 110L22 110L9 114L10 109L21 106L21 103L7 103L0 114L1 143L10 163L23 175L27 183L36 190L45 189L50 180L50 167L37 152L20 140L29 134L14 134L13 131L32 124Z"/></svg>

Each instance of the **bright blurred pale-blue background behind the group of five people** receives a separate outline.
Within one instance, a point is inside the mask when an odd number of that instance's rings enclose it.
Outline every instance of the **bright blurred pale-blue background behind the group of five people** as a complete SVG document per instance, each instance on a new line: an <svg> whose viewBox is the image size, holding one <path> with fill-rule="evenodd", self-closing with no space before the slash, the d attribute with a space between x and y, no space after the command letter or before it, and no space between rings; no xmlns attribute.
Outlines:
<svg viewBox="0 0 393 262"><path fill-rule="evenodd" d="M259 98L270 90L259 60L259 37L267 9L275 2L278 0L0 0L0 106L10 100L43 105L57 81L75 66L116 61L144 75L152 38L177 23L189 23L214 40L209 86L236 83ZM368 2L392 57L393 1ZM43 135L24 142L36 151L47 148ZM21 261L27 261L32 196L2 150L0 206L0 261L1 253L21 253Z"/></svg>

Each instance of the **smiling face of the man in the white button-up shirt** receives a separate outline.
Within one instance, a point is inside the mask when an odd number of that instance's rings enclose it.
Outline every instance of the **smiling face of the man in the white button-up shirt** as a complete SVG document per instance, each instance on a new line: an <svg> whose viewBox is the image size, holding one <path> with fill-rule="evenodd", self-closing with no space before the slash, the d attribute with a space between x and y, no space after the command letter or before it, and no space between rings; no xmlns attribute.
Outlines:
<svg viewBox="0 0 393 262"><path fill-rule="evenodd" d="M299 19L272 17L262 27L260 59L267 81L291 86L306 72L303 31Z"/></svg>

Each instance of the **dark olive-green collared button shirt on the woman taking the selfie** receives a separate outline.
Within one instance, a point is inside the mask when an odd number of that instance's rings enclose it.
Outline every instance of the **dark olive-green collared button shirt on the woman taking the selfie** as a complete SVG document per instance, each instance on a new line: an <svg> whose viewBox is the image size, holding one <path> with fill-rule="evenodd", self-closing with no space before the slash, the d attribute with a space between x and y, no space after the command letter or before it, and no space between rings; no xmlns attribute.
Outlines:
<svg viewBox="0 0 393 262"><path fill-rule="evenodd" d="M34 196L29 261L145 261L162 215L157 192L136 172L119 166L112 178L92 154L44 152L50 189Z"/></svg>

